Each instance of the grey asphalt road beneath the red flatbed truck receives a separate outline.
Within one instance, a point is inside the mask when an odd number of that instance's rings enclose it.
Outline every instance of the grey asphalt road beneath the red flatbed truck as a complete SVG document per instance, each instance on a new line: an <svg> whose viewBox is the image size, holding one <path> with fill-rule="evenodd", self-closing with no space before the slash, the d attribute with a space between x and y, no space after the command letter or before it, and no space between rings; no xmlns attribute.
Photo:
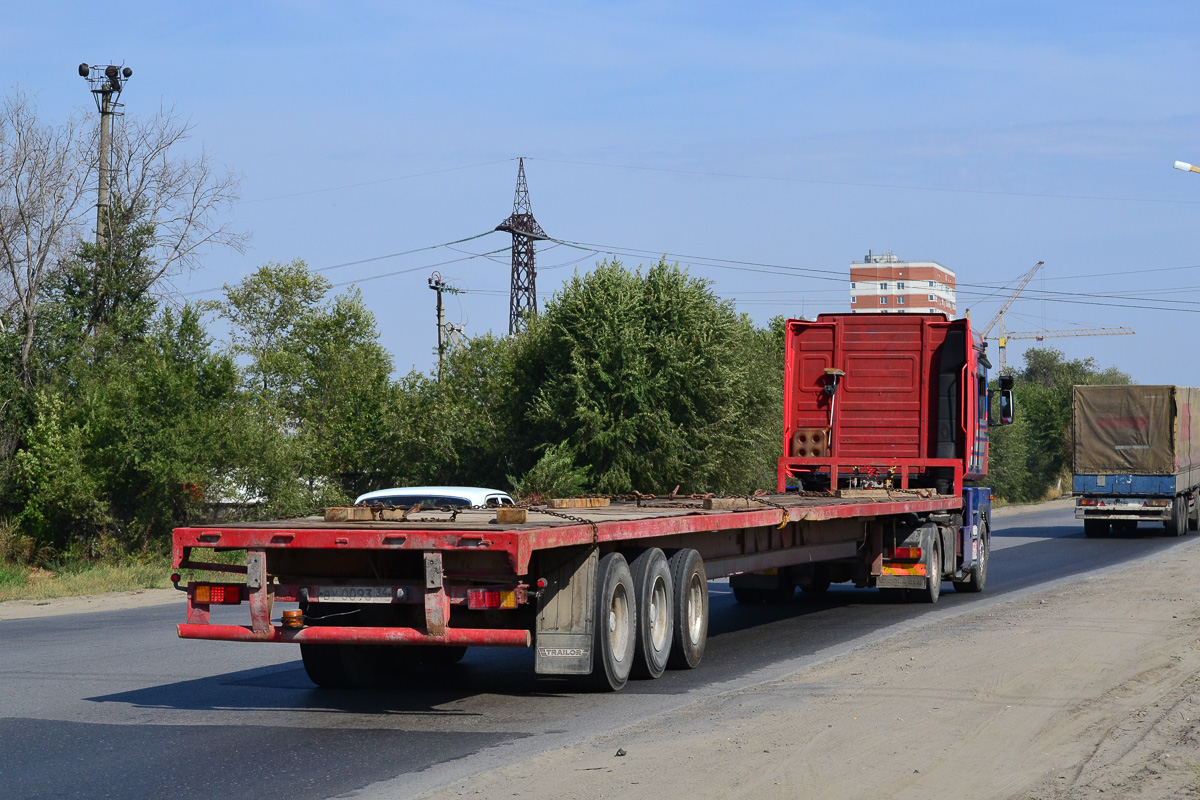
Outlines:
<svg viewBox="0 0 1200 800"><path fill-rule="evenodd" d="M932 607L839 587L743 607L714 582L700 669L617 694L536 676L524 650L472 651L396 690L318 691L289 645L175 638L180 606L0 621L0 796L407 796L1195 540L1088 540L1060 505L997 521L986 591L946 584Z"/></svg>

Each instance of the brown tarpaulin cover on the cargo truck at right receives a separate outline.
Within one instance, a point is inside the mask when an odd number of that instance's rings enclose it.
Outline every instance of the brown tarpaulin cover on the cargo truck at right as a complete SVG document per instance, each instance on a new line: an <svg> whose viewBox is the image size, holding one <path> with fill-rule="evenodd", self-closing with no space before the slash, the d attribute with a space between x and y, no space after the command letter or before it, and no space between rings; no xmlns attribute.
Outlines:
<svg viewBox="0 0 1200 800"><path fill-rule="evenodd" d="M1075 386L1076 475L1174 475L1200 458L1187 386Z"/></svg>

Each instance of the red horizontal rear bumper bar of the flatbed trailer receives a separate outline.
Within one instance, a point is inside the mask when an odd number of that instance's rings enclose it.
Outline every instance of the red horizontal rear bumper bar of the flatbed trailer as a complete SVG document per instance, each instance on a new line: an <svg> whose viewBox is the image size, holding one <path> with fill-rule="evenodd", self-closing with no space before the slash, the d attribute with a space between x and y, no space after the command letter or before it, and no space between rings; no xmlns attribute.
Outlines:
<svg viewBox="0 0 1200 800"><path fill-rule="evenodd" d="M491 648L528 648L529 631L504 628L446 628L431 636L413 627L302 627L284 628L272 625L254 631L248 625L208 625L185 622L176 626L181 639L216 639L221 642L276 642L281 644L416 644L466 645Z"/></svg>

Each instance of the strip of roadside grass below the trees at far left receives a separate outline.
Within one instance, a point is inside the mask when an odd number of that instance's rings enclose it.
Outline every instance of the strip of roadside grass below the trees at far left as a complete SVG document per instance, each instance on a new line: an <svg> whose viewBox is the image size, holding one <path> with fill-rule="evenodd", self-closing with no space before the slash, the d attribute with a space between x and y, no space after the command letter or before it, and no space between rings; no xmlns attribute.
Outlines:
<svg viewBox="0 0 1200 800"><path fill-rule="evenodd" d="M193 551L198 561L221 564L245 564L245 551L212 553ZM0 564L0 602L7 600L52 600L54 597L78 597L103 595L115 591L170 588L170 558L163 555L149 560L119 564L70 561L55 569ZM199 579L228 581L226 573L182 570L184 582ZM236 576L238 579L241 576Z"/></svg>

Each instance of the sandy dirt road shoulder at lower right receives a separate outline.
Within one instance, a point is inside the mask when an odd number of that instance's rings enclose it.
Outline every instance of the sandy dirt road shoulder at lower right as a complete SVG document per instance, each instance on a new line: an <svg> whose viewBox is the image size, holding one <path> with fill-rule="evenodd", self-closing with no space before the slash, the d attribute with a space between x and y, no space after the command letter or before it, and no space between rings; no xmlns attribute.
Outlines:
<svg viewBox="0 0 1200 800"><path fill-rule="evenodd" d="M422 796L1194 796L1198 566L1200 539Z"/></svg>

